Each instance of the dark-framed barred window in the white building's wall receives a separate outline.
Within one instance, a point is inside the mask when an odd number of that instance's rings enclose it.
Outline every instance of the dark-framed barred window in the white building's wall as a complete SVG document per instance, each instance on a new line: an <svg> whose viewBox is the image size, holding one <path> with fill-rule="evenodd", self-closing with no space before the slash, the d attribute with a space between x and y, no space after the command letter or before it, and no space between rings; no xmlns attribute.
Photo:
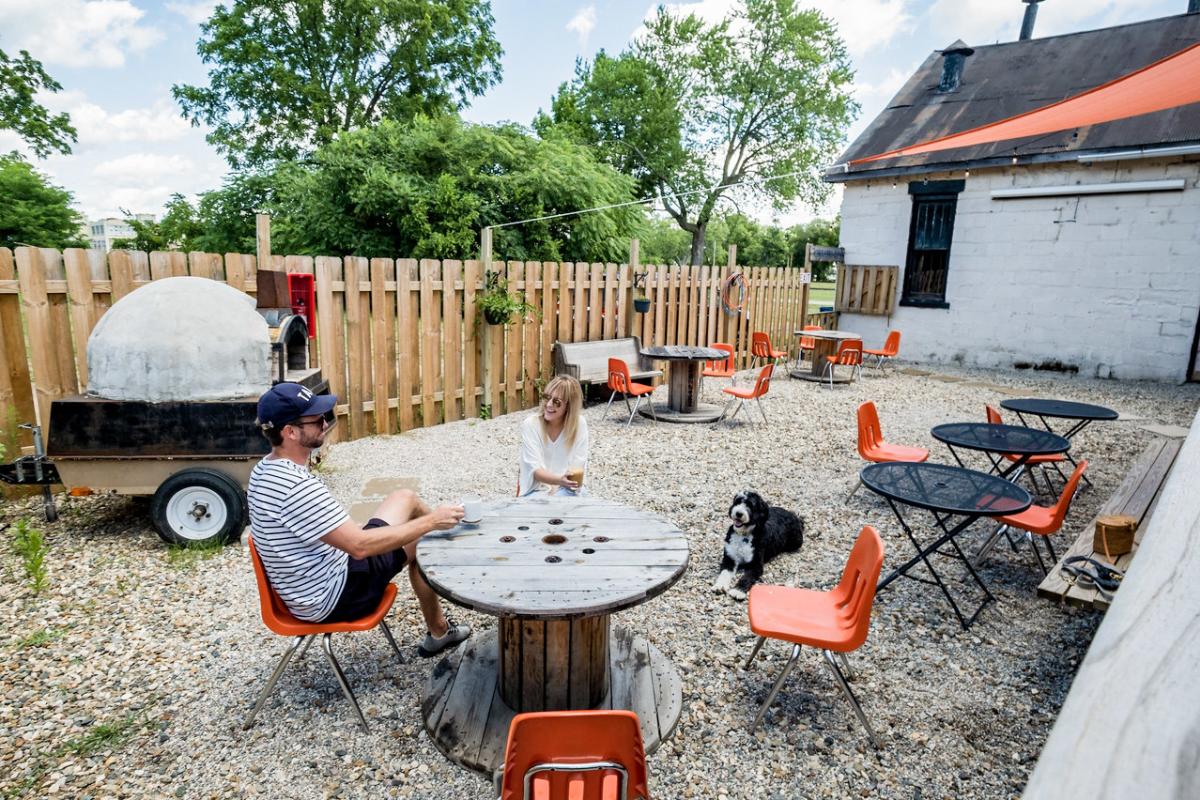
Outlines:
<svg viewBox="0 0 1200 800"><path fill-rule="evenodd" d="M950 269L954 211L965 185L965 181L914 181L908 185L912 219L908 224L901 306L949 308L946 276Z"/></svg>

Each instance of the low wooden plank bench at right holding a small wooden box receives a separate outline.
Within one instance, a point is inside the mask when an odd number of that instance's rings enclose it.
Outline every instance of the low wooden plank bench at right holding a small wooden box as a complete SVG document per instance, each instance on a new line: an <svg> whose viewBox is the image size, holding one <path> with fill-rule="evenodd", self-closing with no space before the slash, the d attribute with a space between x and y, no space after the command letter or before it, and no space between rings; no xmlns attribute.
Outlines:
<svg viewBox="0 0 1200 800"><path fill-rule="evenodd" d="M1134 535L1133 551L1123 555L1118 555L1116 559L1116 569L1124 572L1129 569L1129 563L1133 560L1134 554L1138 552L1138 545L1141 542L1142 533L1146 530L1150 523L1150 516L1154 512L1154 507L1158 504L1158 495L1163 489L1163 485L1166 482L1166 475L1171 470L1171 465L1175 463L1176 456L1180 453L1180 447L1182 447L1183 441L1180 439L1164 439L1156 438L1153 443L1141 456L1134 462L1133 468L1126 475L1124 481L1117 487L1117 491L1109 498L1108 503L1100 509L1097 517L1105 515L1128 515L1138 521L1138 533ZM1066 600L1073 606L1082 606L1087 608L1096 608L1098 610L1104 610L1109 607L1110 601L1105 600L1104 596L1093 587L1085 588L1079 584L1070 584L1063 578L1060 566L1062 561L1073 555L1086 555L1096 559L1102 564L1109 564L1108 558L1103 552L1096 552L1092 548L1092 535L1096 533L1096 518L1087 523L1079 531L1079 536L1075 539L1075 543L1072 545L1070 549L1062 557L1057 565L1050 571L1050 575L1042 581L1038 585L1038 595L1043 597L1050 597L1052 600Z"/></svg>

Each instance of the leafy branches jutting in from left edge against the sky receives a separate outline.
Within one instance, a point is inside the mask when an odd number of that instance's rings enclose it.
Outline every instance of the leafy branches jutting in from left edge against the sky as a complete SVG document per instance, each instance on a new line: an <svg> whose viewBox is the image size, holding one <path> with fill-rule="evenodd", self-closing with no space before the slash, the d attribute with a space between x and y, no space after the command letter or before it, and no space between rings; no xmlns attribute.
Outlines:
<svg viewBox="0 0 1200 800"><path fill-rule="evenodd" d="M46 73L41 61L26 50L11 59L0 50L0 131L16 131L38 158L46 158L52 150L71 152L76 142L76 130L71 118L55 114L34 100L34 92L60 91L61 85Z"/></svg>

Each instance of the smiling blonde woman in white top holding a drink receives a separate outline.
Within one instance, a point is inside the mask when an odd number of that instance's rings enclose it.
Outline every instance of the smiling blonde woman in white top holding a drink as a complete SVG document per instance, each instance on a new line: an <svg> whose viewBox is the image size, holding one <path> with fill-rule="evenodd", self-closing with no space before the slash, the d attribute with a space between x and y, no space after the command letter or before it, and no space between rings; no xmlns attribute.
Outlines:
<svg viewBox="0 0 1200 800"><path fill-rule="evenodd" d="M539 485L556 494L578 494L580 483L569 468L587 470L588 421L583 416L583 390L570 375L552 379L541 393L541 407L521 423L521 477L517 494Z"/></svg>

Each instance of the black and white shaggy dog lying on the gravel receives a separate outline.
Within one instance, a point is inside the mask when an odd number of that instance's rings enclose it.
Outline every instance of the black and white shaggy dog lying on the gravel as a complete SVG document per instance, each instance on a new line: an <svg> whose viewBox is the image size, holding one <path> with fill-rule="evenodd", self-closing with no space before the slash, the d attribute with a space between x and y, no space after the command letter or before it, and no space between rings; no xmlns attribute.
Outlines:
<svg viewBox="0 0 1200 800"><path fill-rule="evenodd" d="M713 583L714 591L724 591L736 600L745 600L758 578L762 565L780 553L794 553L804 543L804 521L786 509L767 505L756 492L739 492L730 505L728 533L721 572ZM733 573L742 577L733 583Z"/></svg>

